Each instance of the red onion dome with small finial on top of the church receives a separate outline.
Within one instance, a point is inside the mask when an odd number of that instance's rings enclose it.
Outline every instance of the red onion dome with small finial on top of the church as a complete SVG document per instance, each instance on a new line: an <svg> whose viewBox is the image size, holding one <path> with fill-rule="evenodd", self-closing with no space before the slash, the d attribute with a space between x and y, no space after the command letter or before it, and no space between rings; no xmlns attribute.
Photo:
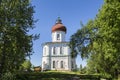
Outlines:
<svg viewBox="0 0 120 80"><path fill-rule="evenodd" d="M52 27L52 32L54 31L64 31L66 33L66 27L61 23L61 20L58 18L56 24Z"/></svg>

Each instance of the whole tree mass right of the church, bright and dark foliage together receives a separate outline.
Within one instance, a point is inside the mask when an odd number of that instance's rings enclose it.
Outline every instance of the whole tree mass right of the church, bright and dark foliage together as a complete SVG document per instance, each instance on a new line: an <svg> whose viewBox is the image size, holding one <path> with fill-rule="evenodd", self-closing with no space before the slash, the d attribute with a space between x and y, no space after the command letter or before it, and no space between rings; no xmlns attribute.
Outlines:
<svg viewBox="0 0 120 80"><path fill-rule="evenodd" d="M71 36L72 54L87 58L92 72L116 78L120 72L119 26L120 1L105 0L93 22Z"/></svg>

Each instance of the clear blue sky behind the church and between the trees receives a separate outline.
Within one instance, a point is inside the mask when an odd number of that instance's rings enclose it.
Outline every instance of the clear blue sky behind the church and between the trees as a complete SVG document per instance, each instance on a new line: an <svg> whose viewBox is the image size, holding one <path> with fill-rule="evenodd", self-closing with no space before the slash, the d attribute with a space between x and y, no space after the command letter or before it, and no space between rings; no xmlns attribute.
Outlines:
<svg viewBox="0 0 120 80"><path fill-rule="evenodd" d="M41 65L41 44L51 41L51 28L57 17L60 17L66 26L66 41L69 41L70 36L81 28L80 22L86 24L88 20L94 19L103 4L103 0L31 0L31 2L35 6L34 19L38 19L38 22L30 33L40 34L40 38L34 41L33 45L34 54L31 56L31 62L34 66ZM86 65L80 56L77 57L76 63L78 66Z"/></svg>

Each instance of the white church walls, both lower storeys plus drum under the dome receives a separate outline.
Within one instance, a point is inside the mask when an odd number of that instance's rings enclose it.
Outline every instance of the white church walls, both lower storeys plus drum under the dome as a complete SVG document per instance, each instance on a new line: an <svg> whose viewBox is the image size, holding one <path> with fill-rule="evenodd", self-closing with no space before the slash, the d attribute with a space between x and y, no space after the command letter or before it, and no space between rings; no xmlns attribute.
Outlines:
<svg viewBox="0 0 120 80"><path fill-rule="evenodd" d="M59 34L59 39L57 39L57 34ZM55 53L53 53L54 51ZM53 68L53 61L57 64L56 68ZM60 67L61 61L64 63L64 68ZM72 60L70 57L70 48L68 42L65 42L65 32L52 32L52 42L43 45L42 69L71 70L71 62L74 62L74 59Z"/></svg>

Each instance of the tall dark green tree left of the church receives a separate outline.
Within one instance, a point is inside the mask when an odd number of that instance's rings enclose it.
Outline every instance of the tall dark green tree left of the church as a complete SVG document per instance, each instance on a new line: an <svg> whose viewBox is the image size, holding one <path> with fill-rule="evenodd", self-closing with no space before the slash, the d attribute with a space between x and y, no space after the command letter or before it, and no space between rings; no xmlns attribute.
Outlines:
<svg viewBox="0 0 120 80"><path fill-rule="evenodd" d="M0 2L0 77L19 69L26 56L32 54L34 35L33 6L29 0Z"/></svg>

